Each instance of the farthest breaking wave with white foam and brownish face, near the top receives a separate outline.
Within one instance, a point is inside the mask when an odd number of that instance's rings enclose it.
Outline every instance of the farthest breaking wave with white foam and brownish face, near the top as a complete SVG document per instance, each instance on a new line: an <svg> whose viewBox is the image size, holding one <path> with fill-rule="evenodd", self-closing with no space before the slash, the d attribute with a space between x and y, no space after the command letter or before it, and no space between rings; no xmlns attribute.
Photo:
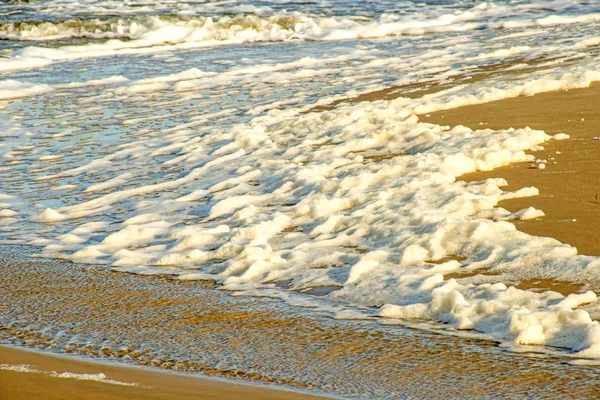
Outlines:
<svg viewBox="0 0 600 400"><path fill-rule="evenodd" d="M501 5L479 4L461 11L436 8L423 14L383 13L364 16L317 16L301 11L272 15L240 13L212 16L140 15L58 21L0 23L0 39L47 41L69 38L142 39L164 37L169 41L279 41L289 39L344 40L387 36L411 36L479 29L511 29L530 26L585 23L600 20L600 13L582 15L533 15L511 11ZM177 38L165 30L185 32Z"/></svg>

